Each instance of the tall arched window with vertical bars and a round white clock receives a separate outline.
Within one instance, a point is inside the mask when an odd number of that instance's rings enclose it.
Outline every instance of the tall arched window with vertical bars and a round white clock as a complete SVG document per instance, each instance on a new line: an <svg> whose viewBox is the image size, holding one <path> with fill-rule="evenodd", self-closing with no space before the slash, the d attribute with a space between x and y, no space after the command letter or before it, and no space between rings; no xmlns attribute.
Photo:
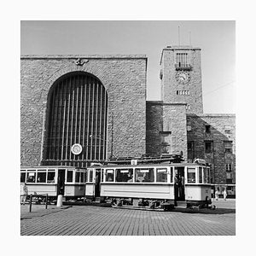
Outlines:
<svg viewBox="0 0 256 256"><path fill-rule="evenodd" d="M86 166L86 161L105 160L108 96L101 81L69 73L55 82L48 101L44 164ZM73 150L74 144L81 147Z"/></svg>

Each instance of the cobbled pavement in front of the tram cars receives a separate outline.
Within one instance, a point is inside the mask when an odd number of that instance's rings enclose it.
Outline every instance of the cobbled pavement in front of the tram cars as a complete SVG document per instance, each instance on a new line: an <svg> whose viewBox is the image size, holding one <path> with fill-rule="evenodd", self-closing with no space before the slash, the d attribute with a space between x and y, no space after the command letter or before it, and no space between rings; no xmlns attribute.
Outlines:
<svg viewBox="0 0 256 256"><path fill-rule="evenodd" d="M152 212L112 207L21 206L21 236L234 236L236 201L216 210Z"/></svg>

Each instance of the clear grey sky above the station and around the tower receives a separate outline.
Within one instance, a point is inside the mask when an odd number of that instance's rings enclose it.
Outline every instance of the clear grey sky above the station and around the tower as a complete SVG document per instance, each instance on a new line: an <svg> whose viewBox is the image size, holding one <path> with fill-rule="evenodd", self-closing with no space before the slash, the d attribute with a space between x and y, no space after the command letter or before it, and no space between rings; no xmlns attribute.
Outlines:
<svg viewBox="0 0 256 256"><path fill-rule="evenodd" d="M20 54L145 54L147 100L159 101L161 50L178 44L178 27L181 45L201 48L204 113L236 113L233 20L21 20Z"/></svg>

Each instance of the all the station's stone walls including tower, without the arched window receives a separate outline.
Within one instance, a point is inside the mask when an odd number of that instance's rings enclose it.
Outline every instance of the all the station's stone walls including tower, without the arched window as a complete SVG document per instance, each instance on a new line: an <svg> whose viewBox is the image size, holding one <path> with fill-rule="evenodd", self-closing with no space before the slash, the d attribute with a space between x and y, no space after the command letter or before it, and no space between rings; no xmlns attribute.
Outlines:
<svg viewBox="0 0 256 256"><path fill-rule="evenodd" d="M185 67L177 66L177 54L186 55ZM58 79L80 72L95 76L107 90L107 158L182 152L189 162L207 160L212 183L236 183L236 117L203 113L201 49L163 49L161 101L146 102L146 70L145 55L22 56L21 165L44 160L49 91ZM179 80L179 73L189 79Z"/></svg>

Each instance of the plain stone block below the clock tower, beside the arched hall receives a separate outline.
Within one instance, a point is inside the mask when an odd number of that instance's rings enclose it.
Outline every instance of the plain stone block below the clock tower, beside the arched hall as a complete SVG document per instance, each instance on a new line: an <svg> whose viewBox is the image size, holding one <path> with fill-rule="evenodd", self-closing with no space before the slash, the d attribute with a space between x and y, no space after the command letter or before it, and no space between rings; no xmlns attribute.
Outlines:
<svg viewBox="0 0 256 256"><path fill-rule="evenodd" d="M180 154L187 159L185 104L147 102L147 154Z"/></svg>

